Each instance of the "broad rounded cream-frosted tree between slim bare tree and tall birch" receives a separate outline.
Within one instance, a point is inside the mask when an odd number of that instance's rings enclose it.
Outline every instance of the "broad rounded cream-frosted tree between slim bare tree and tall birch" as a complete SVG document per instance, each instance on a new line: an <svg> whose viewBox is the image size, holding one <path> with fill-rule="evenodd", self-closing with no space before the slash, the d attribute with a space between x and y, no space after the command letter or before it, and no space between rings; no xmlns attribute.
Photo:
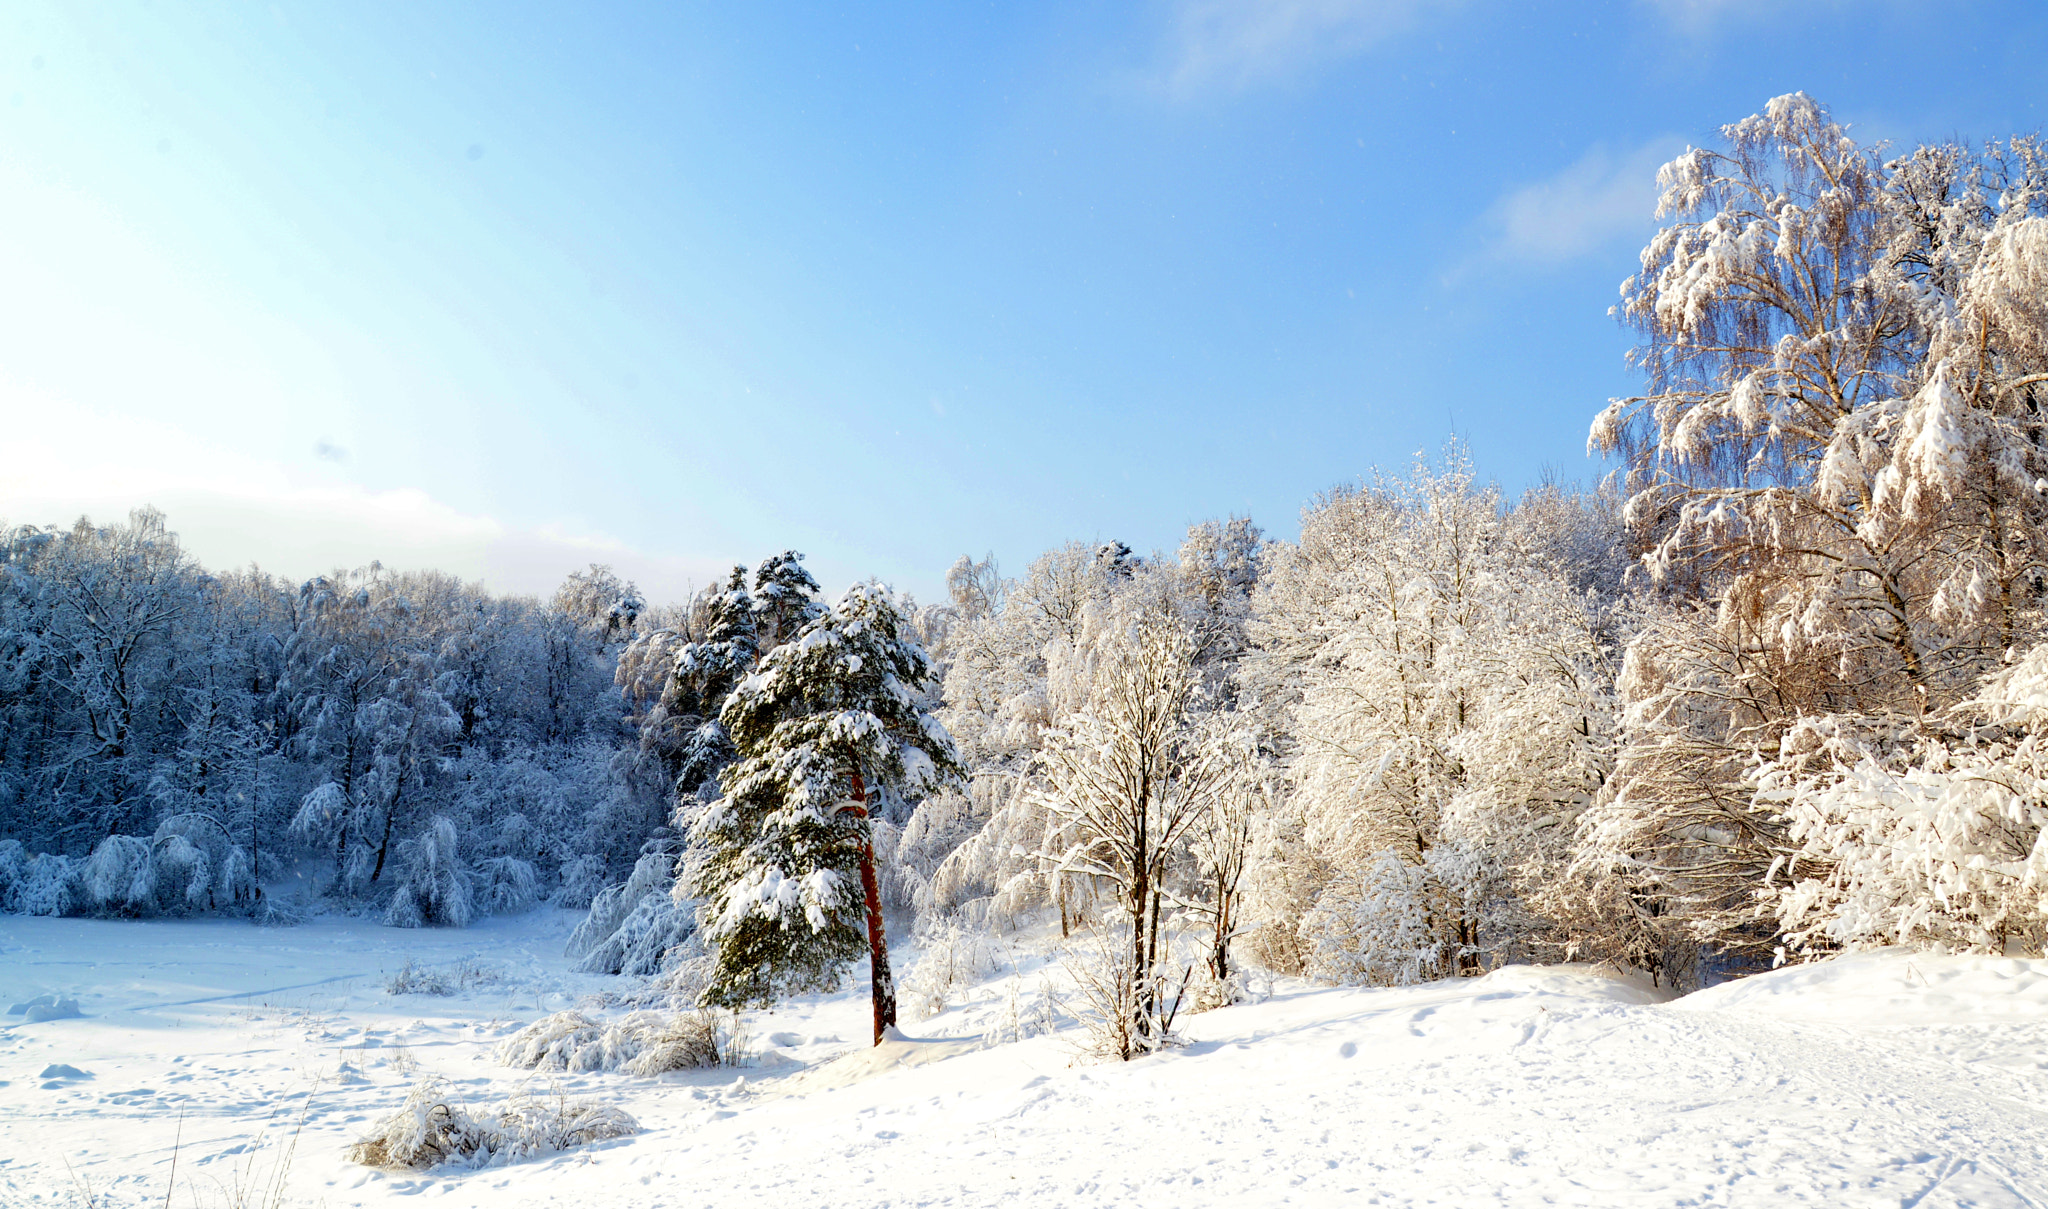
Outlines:
<svg viewBox="0 0 2048 1209"><path fill-rule="evenodd" d="M1300 545L1270 557L1251 633L1260 678L1290 701L1272 725L1298 834L1268 830L1292 850L1270 852L1253 891L1276 908L1341 900L1298 916L1315 971L1477 971L1546 939L1524 900L1565 861L1616 729L1614 600L1550 555L1579 541L1585 512L1552 494L1507 510L1454 455L1327 494ZM1501 893L1444 881L1446 854L1481 850ZM1413 873L1395 877L1389 859ZM1366 918L1423 902L1427 928ZM1391 957L1389 936L1417 949Z"/></svg>

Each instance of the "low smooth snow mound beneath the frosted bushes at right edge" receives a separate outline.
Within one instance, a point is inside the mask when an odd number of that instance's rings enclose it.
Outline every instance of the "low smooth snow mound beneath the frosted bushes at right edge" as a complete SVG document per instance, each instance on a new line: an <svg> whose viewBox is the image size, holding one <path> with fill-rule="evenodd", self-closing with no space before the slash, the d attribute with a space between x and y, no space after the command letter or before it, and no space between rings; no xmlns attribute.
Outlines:
<svg viewBox="0 0 2048 1209"><path fill-rule="evenodd" d="M2048 1023L2048 961L1874 949L1724 982L1673 1006L1843 1025Z"/></svg>

